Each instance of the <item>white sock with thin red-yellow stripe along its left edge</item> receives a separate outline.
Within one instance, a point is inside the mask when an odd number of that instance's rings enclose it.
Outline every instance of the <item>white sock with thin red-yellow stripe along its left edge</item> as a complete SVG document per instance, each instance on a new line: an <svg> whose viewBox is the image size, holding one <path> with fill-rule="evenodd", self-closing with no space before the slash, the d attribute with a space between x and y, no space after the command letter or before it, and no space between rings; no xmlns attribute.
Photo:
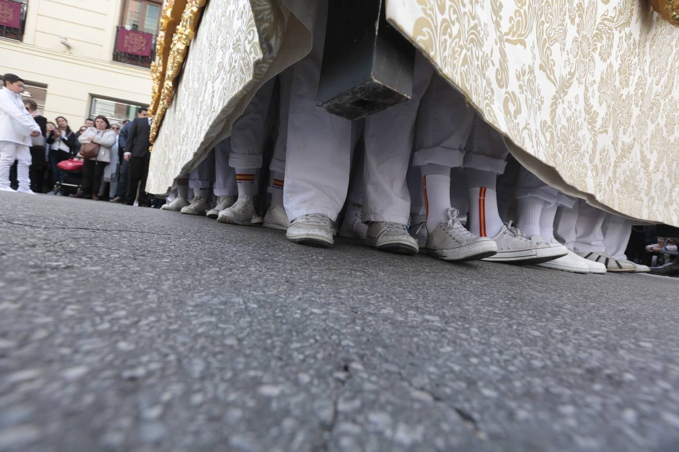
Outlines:
<svg viewBox="0 0 679 452"><path fill-rule="evenodd" d="M450 167L429 163L420 167L424 206L426 208L426 230L432 232L441 222L448 220L450 208Z"/></svg>

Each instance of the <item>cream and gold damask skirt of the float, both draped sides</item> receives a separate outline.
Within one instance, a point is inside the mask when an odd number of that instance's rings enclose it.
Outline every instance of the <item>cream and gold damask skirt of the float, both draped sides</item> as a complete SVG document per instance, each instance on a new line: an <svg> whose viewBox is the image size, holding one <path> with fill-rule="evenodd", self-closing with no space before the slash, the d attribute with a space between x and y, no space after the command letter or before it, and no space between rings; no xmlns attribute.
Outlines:
<svg viewBox="0 0 679 452"><path fill-rule="evenodd" d="M314 0L208 2L151 155L164 193L309 52ZM646 1L387 0L387 18L507 138L592 205L679 226L679 30Z"/></svg>

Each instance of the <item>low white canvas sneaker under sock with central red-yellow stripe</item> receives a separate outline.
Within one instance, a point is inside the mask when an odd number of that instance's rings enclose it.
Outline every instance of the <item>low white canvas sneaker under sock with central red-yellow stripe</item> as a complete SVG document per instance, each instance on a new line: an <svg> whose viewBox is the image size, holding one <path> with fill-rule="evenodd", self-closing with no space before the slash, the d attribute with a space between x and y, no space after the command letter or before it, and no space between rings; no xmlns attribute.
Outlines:
<svg viewBox="0 0 679 452"><path fill-rule="evenodd" d="M498 244L498 253L484 260L528 265L549 262L568 254L564 245L547 243L539 235L528 239L511 224L512 222L503 224L500 232L492 238Z"/></svg>

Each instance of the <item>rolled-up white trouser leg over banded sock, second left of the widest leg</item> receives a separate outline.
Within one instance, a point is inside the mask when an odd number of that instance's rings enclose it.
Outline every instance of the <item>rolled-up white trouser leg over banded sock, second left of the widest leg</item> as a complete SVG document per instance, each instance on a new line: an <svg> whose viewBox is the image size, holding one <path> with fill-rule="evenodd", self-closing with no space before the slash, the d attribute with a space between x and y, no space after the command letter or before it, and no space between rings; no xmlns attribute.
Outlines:
<svg viewBox="0 0 679 452"><path fill-rule="evenodd" d="M266 115L274 81L271 79L259 87L243 114L234 123L229 156L229 165L233 168L261 168L262 146L266 138Z"/></svg>

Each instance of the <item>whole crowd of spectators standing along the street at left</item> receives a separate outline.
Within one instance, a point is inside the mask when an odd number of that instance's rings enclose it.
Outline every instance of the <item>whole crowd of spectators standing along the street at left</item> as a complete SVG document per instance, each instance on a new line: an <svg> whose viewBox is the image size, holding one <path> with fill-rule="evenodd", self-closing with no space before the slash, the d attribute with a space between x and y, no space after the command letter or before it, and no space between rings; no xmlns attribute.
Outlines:
<svg viewBox="0 0 679 452"><path fill-rule="evenodd" d="M135 204L141 192L139 205L151 207L144 194L148 164L139 169L132 157L132 148L136 148L136 155L148 160L149 133L144 127L150 125L148 108L136 112L139 123L98 115L74 130L63 116L54 121L45 118L34 100L22 98L23 86L20 77L3 76L0 142L12 143L12 150L3 152L0 159L0 190L129 205ZM136 183L134 188L131 183ZM155 207L160 207L160 201Z"/></svg>

